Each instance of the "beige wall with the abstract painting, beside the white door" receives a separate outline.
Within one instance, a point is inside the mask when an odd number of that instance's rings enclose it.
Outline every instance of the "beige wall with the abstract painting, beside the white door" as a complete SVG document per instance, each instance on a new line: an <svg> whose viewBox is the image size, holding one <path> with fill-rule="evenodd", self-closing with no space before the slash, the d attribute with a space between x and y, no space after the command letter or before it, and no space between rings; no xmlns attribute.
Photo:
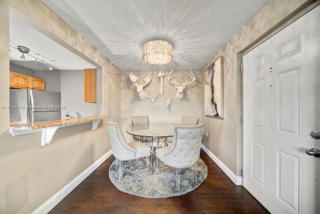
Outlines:
<svg viewBox="0 0 320 214"><path fill-rule="evenodd" d="M269 0L202 68L202 72L220 55L223 56L224 119L204 116L208 138L203 144L234 174L241 174L241 73L239 52L250 47L276 28L283 19L300 10L310 0ZM202 84L203 88L203 84ZM202 89L203 90L203 89ZM202 99L203 106L203 99Z"/></svg>

